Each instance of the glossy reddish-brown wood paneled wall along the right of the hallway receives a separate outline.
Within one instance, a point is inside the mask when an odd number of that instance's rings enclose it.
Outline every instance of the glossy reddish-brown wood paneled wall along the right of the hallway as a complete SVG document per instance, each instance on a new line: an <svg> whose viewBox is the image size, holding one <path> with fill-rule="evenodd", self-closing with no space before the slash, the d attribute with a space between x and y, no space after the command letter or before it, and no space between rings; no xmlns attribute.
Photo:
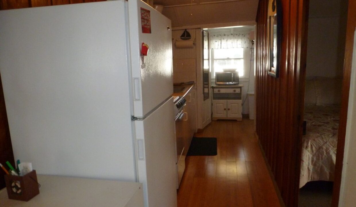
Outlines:
<svg viewBox="0 0 356 207"><path fill-rule="evenodd" d="M287 207L298 206L309 0L281 0L279 78L267 74L268 0L256 31L256 133Z"/></svg>

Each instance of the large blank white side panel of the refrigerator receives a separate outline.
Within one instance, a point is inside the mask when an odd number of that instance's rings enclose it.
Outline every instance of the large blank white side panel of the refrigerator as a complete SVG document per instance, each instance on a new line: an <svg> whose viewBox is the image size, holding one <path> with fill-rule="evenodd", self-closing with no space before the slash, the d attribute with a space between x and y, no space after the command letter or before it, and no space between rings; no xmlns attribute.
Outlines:
<svg viewBox="0 0 356 207"><path fill-rule="evenodd" d="M125 4L0 11L14 155L38 174L135 181Z"/></svg>

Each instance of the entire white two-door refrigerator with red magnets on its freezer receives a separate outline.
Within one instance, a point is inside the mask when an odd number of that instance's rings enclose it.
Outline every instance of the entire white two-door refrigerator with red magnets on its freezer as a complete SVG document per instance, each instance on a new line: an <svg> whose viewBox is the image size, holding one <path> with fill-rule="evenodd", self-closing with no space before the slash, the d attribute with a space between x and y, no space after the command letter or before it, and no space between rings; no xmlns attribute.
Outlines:
<svg viewBox="0 0 356 207"><path fill-rule="evenodd" d="M176 207L170 27L140 0L0 11L15 159L38 174L142 182L146 207Z"/></svg>

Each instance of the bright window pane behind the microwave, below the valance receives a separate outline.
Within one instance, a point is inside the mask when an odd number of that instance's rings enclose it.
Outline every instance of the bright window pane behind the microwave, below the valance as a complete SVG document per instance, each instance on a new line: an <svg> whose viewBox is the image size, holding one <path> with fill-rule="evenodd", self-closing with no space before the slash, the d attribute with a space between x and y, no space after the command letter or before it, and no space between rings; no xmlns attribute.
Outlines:
<svg viewBox="0 0 356 207"><path fill-rule="evenodd" d="M244 48L212 49L212 76L215 72L222 72L224 68L236 68L240 77L245 77Z"/></svg>

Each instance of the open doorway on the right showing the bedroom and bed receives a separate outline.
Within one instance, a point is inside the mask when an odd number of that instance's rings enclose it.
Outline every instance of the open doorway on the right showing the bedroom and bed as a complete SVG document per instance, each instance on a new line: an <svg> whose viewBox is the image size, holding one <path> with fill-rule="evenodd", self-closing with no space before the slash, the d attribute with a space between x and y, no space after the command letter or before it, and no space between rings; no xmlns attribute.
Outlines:
<svg viewBox="0 0 356 207"><path fill-rule="evenodd" d="M348 1L310 1L299 207L330 207Z"/></svg>

